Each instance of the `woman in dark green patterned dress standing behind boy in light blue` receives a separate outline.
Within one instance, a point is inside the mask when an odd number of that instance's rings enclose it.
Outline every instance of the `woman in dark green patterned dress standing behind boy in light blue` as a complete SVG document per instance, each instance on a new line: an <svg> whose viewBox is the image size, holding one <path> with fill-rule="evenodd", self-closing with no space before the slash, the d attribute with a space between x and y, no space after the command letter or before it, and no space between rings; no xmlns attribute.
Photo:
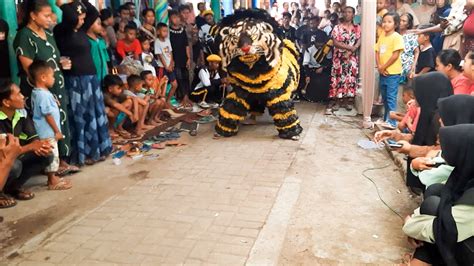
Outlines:
<svg viewBox="0 0 474 266"><path fill-rule="evenodd" d="M71 155L71 132L69 128L68 106L69 97L64 84L61 68L66 70L71 67L67 58L60 58L59 50L53 33L48 30L51 23L51 6L47 0L28 1L25 7L25 21L20 26L13 47L15 48L20 66L20 88L26 97L26 108L31 111L31 92L33 87L28 80L30 67L33 60L48 62L54 69L55 83L50 92L59 101L61 110L61 132L64 139L59 141L59 157L61 158L60 175L77 172L79 169L67 163Z"/></svg>

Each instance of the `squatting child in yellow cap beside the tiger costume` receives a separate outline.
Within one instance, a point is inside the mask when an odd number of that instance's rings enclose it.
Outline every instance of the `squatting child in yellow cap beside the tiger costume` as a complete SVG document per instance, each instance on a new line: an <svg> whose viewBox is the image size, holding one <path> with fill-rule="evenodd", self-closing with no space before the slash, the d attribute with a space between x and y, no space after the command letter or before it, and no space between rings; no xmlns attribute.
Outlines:
<svg viewBox="0 0 474 266"><path fill-rule="evenodd" d="M227 81L219 75L221 58L211 54L206 58L207 66L201 68L193 81L191 99L202 108L217 108L224 97ZM209 102L209 103L208 103Z"/></svg>

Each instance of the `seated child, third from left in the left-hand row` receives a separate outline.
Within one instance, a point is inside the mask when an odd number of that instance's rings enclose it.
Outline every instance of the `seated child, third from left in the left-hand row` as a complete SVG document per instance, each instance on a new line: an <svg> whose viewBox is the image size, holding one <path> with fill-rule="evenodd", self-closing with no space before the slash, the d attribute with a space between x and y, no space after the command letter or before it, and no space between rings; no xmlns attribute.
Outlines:
<svg viewBox="0 0 474 266"><path fill-rule="evenodd" d="M158 80L151 71L145 70L140 73L143 83L141 93L149 97L150 110L148 111L150 119L156 123L161 123L160 112L167 107L166 103L166 85L168 78L163 77Z"/></svg>

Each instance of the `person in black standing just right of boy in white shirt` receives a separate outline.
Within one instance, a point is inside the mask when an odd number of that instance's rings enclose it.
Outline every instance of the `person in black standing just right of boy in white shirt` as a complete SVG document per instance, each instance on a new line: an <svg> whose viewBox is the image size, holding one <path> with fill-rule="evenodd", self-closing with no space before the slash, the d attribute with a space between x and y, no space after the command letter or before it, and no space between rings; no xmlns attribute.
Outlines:
<svg viewBox="0 0 474 266"><path fill-rule="evenodd" d="M178 97L182 99L183 107L191 107L189 100L190 82L189 69L191 69L191 46L186 35L186 30L182 25L178 12L171 10L170 18L170 42L173 52L174 72L178 82ZM170 78L171 81L171 78Z"/></svg>

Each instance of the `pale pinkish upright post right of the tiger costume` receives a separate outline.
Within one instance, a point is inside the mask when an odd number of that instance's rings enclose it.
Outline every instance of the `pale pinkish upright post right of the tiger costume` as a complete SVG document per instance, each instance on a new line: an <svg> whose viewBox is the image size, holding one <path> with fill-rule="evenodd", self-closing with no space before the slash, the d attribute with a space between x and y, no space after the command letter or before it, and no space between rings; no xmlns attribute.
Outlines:
<svg viewBox="0 0 474 266"><path fill-rule="evenodd" d="M372 105L375 89L375 28L376 1L362 2L362 45L360 54L360 77L362 79L362 104L364 127L372 127Z"/></svg>

